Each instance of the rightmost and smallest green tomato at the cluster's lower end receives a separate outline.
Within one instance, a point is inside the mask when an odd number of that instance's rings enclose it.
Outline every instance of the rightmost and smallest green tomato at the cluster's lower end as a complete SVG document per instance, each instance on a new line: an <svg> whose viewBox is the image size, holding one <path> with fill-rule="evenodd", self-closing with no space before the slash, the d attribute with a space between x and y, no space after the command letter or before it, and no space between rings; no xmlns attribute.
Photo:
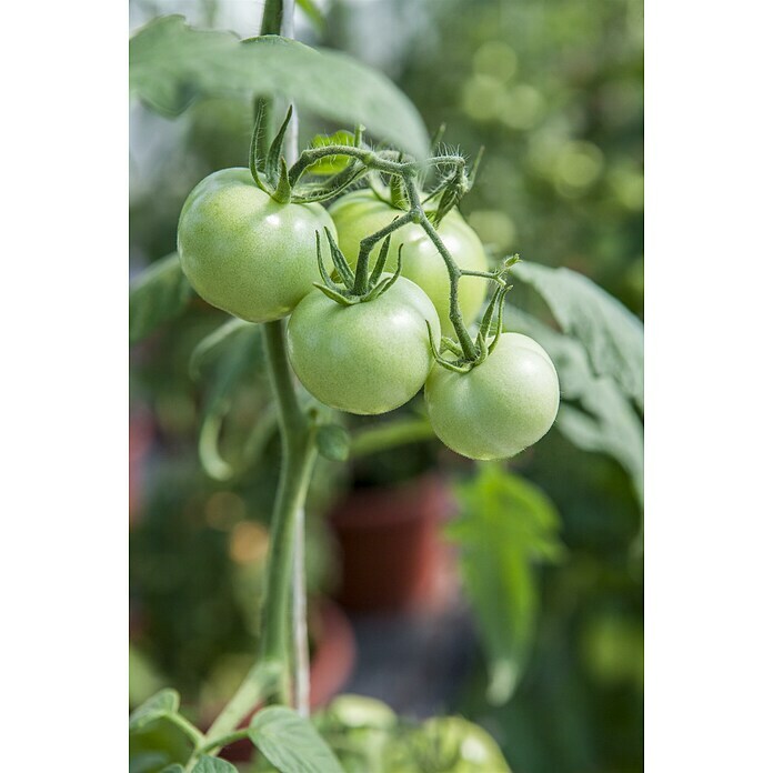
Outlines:
<svg viewBox="0 0 773 773"><path fill-rule="evenodd" d="M509 459L553 425L559 377L536 341L503 333L466 373L435 364L424 396L432 429L450 449L470 459Z"/></svg>

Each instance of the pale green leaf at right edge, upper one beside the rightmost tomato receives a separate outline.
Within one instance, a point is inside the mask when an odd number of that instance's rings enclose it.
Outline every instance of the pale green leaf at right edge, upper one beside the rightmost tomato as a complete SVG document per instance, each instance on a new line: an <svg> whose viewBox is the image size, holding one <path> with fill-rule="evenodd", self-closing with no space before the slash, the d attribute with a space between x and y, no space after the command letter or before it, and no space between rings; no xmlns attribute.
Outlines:
<svg viewBox="0 0 773 773"><path fill-rule="evenodd" d="M559 325L584 345L599 377L644 406L644 327L616 298L570 269L520 262L512 277L533 287Z"/></svg>

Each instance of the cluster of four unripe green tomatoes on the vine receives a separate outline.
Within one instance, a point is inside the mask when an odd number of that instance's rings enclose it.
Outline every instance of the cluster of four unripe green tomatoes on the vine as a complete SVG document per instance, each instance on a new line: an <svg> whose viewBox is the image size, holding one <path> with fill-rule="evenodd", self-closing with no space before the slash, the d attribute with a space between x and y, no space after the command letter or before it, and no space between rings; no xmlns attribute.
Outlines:
<svg viewBox="0 0 773 773"><path fill-rule="evenodd" d="M384 245L385 270L396 271L400 249L402 269L381 294L341 303L334 293L314 287L320 281L320 232L327 229L338 239L353 270L361 240L401 213L371 190L347 193L329 211L317 203L278 203L248 169L227 169L210 174L189 195L178 250L185 275L211 304L251 322L290 315L290 362L321 402L378 414L399 408L424 386L430 422L449 448L471 459L512 456L542 438L555 420L555 368L540 344L519 333L501 334L489 355L464 372L436 361L432 342L453 331L450 280L421 225L403 225ZM486 270L483 247L458 210L448 213L438 233L460 269ZM339 268L347 270L345 263ZM332 272L329 261L322 269ZM459 307L465 323L481 312L484 294L484 281L461 279Z"/></svg>

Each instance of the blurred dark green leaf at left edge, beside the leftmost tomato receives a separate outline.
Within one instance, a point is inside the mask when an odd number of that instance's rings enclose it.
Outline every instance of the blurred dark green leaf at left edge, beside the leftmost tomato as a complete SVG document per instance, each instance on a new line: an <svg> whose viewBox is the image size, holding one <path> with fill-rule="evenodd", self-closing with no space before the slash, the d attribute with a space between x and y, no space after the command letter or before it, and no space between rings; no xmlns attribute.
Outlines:
<svg viewBox="0 0 773 773"><path fill-rule="evenodd" d="M155 261L129 289L129 342L141 341L182 314L193 294L177 252Z"/></svg>

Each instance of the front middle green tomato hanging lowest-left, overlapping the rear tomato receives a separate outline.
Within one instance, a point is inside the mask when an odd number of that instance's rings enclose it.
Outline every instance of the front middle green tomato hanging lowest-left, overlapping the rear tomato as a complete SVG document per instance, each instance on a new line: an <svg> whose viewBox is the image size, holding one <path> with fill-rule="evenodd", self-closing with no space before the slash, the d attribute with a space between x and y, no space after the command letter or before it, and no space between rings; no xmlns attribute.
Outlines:
<svg viewBox="0 0 773 773"><path fill-rule="evenodd" d="M377 299L341 305L309 293L290 317L288 353L301 383L340 411L385 413L426 381L433 358L426 332L440 335L432 302L400 277Z"/></svg>

